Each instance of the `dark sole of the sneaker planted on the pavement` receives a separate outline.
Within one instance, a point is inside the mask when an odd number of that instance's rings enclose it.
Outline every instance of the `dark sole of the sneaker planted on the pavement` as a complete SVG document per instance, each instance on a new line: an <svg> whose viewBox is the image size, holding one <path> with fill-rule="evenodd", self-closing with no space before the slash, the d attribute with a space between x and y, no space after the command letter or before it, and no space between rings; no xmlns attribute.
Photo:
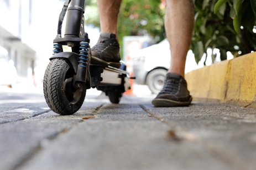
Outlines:
<svg viewBox="0 0 256 170"><path fill-rule="evenodd" d="M179 106L189 106L192 101L192 97L190 97L189 101L187 102L178 102L163 98L156 98L152 101L152 104L155 107L179 107Z"/></svg>

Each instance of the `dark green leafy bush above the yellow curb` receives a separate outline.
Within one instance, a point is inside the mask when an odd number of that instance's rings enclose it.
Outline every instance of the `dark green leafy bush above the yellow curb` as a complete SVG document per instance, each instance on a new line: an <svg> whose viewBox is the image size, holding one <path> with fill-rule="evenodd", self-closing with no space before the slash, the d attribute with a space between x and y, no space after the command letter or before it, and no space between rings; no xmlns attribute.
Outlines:
<svg viewBox="0 0 256 170"><path fill-rule="evenodd" d="M191 49L200 61L207 48L218 48L221 60L227 51L234 57L256 51L255 0L196 0ZM254 7L253 7L254 6ZM212 53L212 61L216 54Z"/></svg>

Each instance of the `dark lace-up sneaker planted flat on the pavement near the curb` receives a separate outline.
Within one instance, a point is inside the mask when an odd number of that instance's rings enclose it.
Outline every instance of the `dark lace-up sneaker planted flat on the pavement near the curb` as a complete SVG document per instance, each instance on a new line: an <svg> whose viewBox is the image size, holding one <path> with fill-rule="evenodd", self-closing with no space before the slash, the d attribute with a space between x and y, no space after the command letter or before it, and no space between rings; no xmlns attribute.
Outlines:
<svg viewBox="0 0 256 170"><path fill-rule="evenodd" d="M189 106L192 101L186 80L179 74L167 73L164 87L154 98L155 107Z"/></svg>

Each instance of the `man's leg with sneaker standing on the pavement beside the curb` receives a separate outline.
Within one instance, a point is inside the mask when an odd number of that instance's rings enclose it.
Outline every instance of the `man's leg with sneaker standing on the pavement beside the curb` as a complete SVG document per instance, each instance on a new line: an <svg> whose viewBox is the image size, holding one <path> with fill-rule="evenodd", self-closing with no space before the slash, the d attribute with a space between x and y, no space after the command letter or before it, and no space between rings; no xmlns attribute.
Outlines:
<svg viewBox="0 0 256 170"><path fill-rule="evenodd" d="M170 43L171 63L165 85L152 101L156 107L187 106L192 100L184 71L194 28L194 15L191 0L166 0L165 31Z"/></svg>

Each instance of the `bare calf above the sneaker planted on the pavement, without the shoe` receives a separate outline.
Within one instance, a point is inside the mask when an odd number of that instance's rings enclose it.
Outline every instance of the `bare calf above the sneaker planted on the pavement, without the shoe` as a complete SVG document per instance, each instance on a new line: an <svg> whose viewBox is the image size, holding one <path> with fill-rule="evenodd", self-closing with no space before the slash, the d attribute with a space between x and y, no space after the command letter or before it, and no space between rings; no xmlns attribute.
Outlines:
<svg viewBox="0 0 256 170"><path fill-rule="evenodd" d="M165 30L171 50L168 72L183 77L194 28L194 15L194 4L191 0L166 0Z"/></svg>

